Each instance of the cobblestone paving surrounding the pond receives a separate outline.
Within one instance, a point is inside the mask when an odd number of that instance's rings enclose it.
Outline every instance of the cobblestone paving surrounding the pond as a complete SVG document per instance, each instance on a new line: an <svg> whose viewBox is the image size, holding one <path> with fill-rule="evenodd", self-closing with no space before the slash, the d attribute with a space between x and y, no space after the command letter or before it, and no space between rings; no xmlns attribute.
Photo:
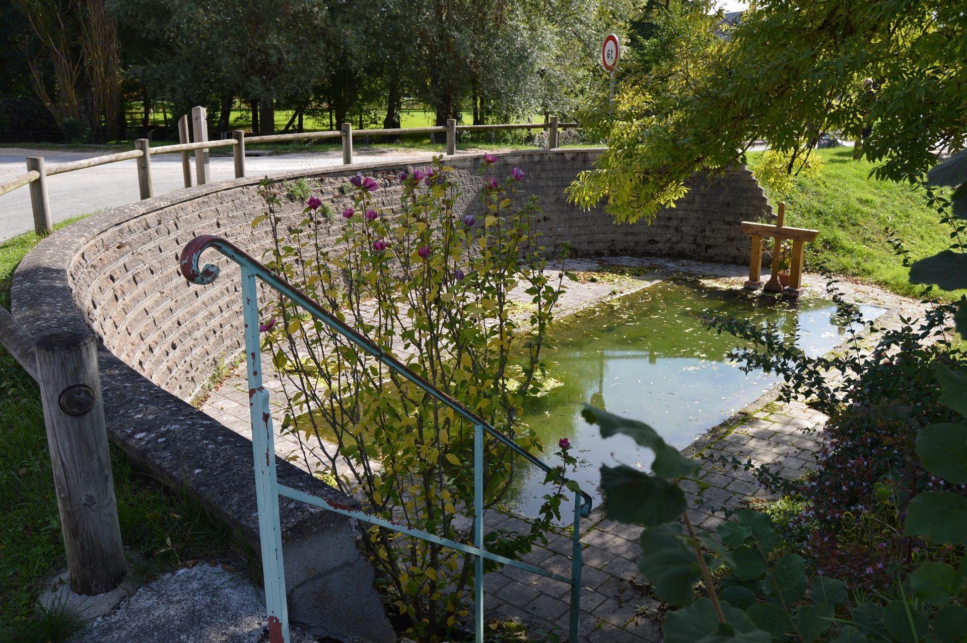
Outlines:
<svg viewBox="0 0 967 643"><path fill-rule="evenodd" d="M641 279L647 286L675 272L715 278L740 278L744 269L690 261L666 261L618 257L611 264L650 266L656 271ZM594 261L574 262L571 270L589 270ZM823 292L824 282L806 276L804 283L815 293ZM846 297L857 303L883 307L879 328L896 328L899 316L922 317L923 306L874 286L842 281L838 284ZM633 289L633 285L627 290ZM573 312L613 296L613 284L572 283L562 299L562 312ZM869 341L870 338L864 337ZM835 376L835 375L832 375ZM280 388L278 380L267 386ZM249 433L249 399L244 369L236 369L220 388L204 402L201 409L222 424L244 435ZM819 429L827 418L809 409L802 401L780 403L776 392L770 392L749 404L739 414L711 429L689 446L684 453L693 456L751 459L755 465L766 464L780 475L795 480L806 474L812 453L821 447ZM280 425L278 422L276 426ZM277 438L277 451L286 456L298 453L299 444L291 436ZM767 492L741 468L705 461L696 481L682 483L689 496L689 518L693 524L715 531L724 521L719 508L738 509L750 499L768 498ZM487 520L487 528L512 527L527 529L517 516L496 514ZM660 641L660 625L655 616L659 601L649 596L638 574L636 561L641 553L638 536L641 529L608 520L599 509L581 523L583 570L581 579L581 641L590 643L637 643ZM554 534L546 546L535 547L524 561L568 576L571 573L571 537ZM545 629L567 637L570 606L569 586L548 578L537 577L512 568L491 572L484 579L486 610L526 621L536 631Z"/></svg>

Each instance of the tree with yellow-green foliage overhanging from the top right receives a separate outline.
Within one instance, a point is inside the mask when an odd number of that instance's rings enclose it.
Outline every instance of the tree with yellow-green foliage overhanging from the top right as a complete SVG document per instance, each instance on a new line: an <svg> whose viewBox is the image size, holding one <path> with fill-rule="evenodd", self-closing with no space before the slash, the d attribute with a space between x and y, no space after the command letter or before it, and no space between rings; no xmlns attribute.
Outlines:
<svg viewBox="0 0 967 643"><path fill-rule="evenodd" d="M709 3L668 7L655 10L677 25L668 57L620 78L614 101L583 115L609 150L571 186L576 203L604 198L619 221L651 219L693 171L744 161L757 140L797 172L818 132L856 139L871 124L862 153L874 175L912 182L965 144L967 15L956 0L766 1L727 40Z"/></svg>

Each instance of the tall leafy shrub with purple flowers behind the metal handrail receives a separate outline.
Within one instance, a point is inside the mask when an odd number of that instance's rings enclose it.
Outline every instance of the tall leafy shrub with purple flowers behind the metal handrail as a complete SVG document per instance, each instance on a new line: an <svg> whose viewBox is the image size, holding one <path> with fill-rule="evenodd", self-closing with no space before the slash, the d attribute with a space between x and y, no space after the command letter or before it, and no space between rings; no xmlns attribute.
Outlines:
<svg viewBox="0 0 967 643"><path fill-rule="evenodd" d="M484 161L481 171L488 169ZM264 181L268 212L252 225L272 227L276 243L267 265L518 445L540 449L518 418L524 397L539 384L542 346L565 273L548 268L537 198L517 195L523 173L514 168L503 182L483 179L480 219L457 219L454 170L440 158L398 180L398 207L376 205L380 184L357 175L347 184L353 206L338 223L320 218L321 200L311 197L304 219L287 226L277 214L277 188ZM328 241L334 225L335 245ZM518 286L530 302L524 315L513 314L511 292ZM360 499L366 511L466 541L474 426L389 370L371 345L348 342L293 302L278 298L261 314L266 346L285 373L282 428L299 436L310 470ZM495 439L486 440L484 454L489 509L523 463ZM566 448L558 454L574 462ZM565 484L576 488L558 480L545 496L542 520L528 533L487 534L487 548L516 556L543 539L559 515ZM471 556L377 527L366 531L362 546L407 632L444 635L466 614Z"/></svg>

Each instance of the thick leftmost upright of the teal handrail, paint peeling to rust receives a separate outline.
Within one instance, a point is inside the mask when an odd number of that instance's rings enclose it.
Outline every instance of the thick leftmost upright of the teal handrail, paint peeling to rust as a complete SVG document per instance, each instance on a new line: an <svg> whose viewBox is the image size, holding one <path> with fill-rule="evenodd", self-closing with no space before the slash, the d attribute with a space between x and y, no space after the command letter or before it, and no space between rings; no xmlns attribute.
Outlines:
<svg viewBox="0 0 967 643"><path fill-rule="evenodd" d="M289 643L289 617L285 598L285 568L282 561L281 525L278 520L276 446L272 428L269 392L262 386L261 338L258 332L257 276L242 266L242 315L245 322L246 366L249 378L251 450L255 464L255 500L258 506L258 540L265 581L265 611L269 617L269 638L281 635Z"/></svg>

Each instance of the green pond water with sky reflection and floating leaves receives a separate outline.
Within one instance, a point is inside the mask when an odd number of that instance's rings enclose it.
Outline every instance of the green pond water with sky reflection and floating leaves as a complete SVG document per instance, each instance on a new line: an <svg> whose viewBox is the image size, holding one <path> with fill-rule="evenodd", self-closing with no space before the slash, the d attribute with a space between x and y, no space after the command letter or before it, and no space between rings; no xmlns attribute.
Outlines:
<svg viewBox="0 0 967 643"><path fill-rule="evenodd" d="M861 309L867 319L883 312ZM532 399L523 422L538 432L548 451L556 451L563 437L571 441L578 465L569 476L595 496L597 506L601 464L648 470L652 454L626 436L602 439L598 427L581 418L583 404L651 424L666 442L682 449L780 381L775 373L745 373L727 362L740 340L706 330L692 314L778 324L787 341L817 356L846 339L835 312L835 304L819 298L780 300L772 293L698 279L659 282L556 327L543 357L548 374L561 385ZM552 463L549 453L543 457ZM536 515L548 491L543 474L535 467L518 471L509 505Z"/></svg>

